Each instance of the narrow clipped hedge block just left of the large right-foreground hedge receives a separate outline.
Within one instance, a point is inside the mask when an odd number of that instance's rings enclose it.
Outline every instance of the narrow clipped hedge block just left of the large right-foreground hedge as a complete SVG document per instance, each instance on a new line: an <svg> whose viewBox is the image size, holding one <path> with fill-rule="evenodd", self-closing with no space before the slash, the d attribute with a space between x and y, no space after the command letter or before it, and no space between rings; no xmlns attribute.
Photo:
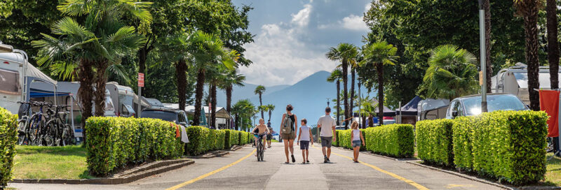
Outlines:
<svg viewBox="0 0 561 190"><path fill-rule="evenodd" d="M451 166L452 119L423 120L417 122L417 156L428 163Z"/></svg>

